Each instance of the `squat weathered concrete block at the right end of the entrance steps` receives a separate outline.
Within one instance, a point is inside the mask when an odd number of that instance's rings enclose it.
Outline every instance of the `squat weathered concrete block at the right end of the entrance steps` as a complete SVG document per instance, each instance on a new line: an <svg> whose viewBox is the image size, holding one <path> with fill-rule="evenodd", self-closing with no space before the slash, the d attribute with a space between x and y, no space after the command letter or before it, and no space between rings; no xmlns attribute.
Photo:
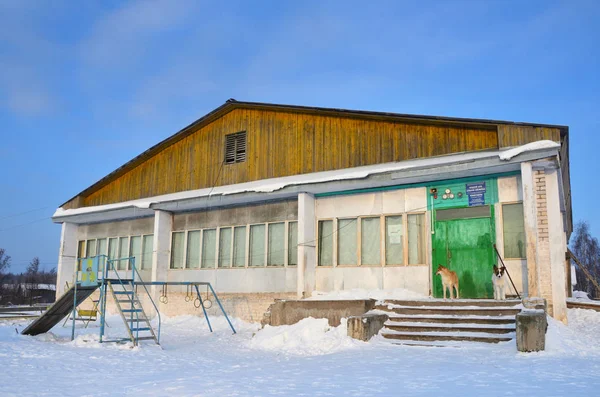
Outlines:
<svg viewBox="0 0 600 397"><path fill-rule="evenodd" d="M546 348L548 321L543 310L524 310L517 314L517 350L538 352Z"/></svg>

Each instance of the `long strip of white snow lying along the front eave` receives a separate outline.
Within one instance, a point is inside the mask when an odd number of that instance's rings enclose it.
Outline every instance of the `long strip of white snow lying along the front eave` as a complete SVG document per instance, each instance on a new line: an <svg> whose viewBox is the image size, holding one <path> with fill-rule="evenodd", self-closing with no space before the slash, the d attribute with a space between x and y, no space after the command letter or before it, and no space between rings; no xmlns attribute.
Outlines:
<svg viewBox="0 0 600 397"><path fill-rule="evenodd" d="M354 168L345 168L340 170L333 171L323 171L323 172L314 172L310 174L302 174L302 175L292 175L285 176L281 178L270 178L270 179L261 179L253 182L246 183L238 183L234 185L225 185L225 186L216 186L214 188L204 188L204 189L196 189L196 190L188 190L184 192L178 193L170 193L163 194L160 196L147 197L143 199L137 200L129 200L123 201L115 204L105 204L98 205L92 207L82 207L82 208L74 208L74 209L63 209L58 208L53 217L62 217L62 216L71 216L71 215L81 215L81 214L89 214L95 212L104 212L110 210L118 210L123 208L140 208L140 209L148 209L152 204L164 203L170 201L178 201L185 199L193 199L199 197L212 197L216 195L229 195L229 194L237 194L237 193L245 193L245 192L256 192L256 193L271 193L280 189L283 189L286 186L293 185L307 185L314 183L323 183L323 182L332 182L332 181L341 181L341 180L350 180L350 179L362 179L366 178L369 175L373 174L381 174L386 172L393 171L402 171L408 169L417 169L424 167L435 167L435 166L443 166L448 163L453 163L458 160L474 160L474 159L483 159L490 157L499 157L501 160L511 160L512 158L518 156L521 153L542 150L542 149L552 149L558 148L560 144L553 141L537 141L528 143L523 146L518 146L508 150L500 150L500 151L484 151L484 152L475 152L475 153L459 153L459 154L451 154L446 156L439 157L431 157L431 158L420 158L414 160L393 162L393 163L383 163L383 164L375 164L368 165L363 167L354 167Z"/></svg>

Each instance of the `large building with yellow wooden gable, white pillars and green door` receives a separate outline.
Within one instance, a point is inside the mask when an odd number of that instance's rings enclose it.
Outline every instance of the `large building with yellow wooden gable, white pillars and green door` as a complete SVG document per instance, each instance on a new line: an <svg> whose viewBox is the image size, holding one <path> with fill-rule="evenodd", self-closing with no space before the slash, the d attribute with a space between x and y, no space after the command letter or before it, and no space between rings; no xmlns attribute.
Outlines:
<svg viewBox="0 0 600 397"><path fill-rule="evenodd" d="M209 281L252 320L316 290L439 297L438 264L491 298L495 244L564 321L568 153L565 126L229 100L56 211L59 293L76 257L107 254Z"/></svg>

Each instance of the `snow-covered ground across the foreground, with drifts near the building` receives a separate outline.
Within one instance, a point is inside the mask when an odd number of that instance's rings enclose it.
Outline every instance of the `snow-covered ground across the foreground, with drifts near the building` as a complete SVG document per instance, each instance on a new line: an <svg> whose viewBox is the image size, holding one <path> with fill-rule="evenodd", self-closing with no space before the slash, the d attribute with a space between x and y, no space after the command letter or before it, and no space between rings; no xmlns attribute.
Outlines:
<svg viewBox="0 0 600 397"><path fill-rule="evenodd" d="M26 321L0 321L2 396L594 396L600 390L600 313L569 310L551 321L547 351L519 354L514 342L459 348L394 346L349 339L345 323L305 319L266 327L223 318L163 323L163 348L99 344L97 328L57 326L37 337ZM109 333L123 335L118 317Z"/></svg>

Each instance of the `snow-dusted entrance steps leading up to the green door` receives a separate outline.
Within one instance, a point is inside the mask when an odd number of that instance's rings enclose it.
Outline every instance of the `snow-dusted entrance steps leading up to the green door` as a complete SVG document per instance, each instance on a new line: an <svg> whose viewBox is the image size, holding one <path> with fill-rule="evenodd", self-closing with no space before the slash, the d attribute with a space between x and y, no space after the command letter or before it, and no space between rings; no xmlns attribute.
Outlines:
<svg viewBox="0 0 600 397"><path fill-rule="evenodd" d="M380 334L391 343L456 347L460 343L513 340L520 303L518 300L389 300L375 309L389 316Z"/></svg>

